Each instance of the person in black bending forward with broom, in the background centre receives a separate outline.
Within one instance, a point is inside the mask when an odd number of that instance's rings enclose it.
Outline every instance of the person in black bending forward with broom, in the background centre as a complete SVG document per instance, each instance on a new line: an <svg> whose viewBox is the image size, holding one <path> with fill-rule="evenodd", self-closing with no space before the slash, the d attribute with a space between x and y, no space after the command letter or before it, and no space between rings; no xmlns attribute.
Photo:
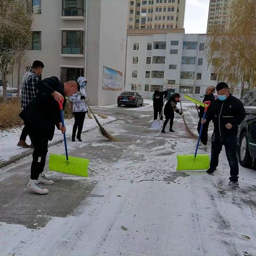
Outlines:
<svg viewBox="0 0 256 256"><path fill-rule="evenodd" d="M177 114L182 115L182 112L177 108L177 103L180 101L180 94L175 93L170 99L166 102L165 107L164 107L164 115L165 115L165 121L162 129L162 133L165 133L165 126L170 120L170 132L175 132L172 130L172 125L173 125L173 119L174 119L174 111Z"/></svg>

